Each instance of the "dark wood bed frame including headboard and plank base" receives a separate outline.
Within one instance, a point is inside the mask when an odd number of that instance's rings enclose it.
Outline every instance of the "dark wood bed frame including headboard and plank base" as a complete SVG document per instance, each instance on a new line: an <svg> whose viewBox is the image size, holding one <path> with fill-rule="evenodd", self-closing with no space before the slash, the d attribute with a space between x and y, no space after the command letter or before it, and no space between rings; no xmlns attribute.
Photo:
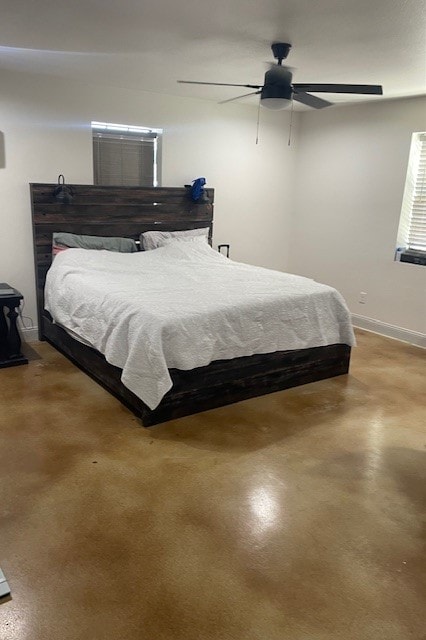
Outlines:
<svg viewBox="0 0 426 640"><path fill-rule="evenodd" d="M47 340L138 415L144 426L198 413L254 396L342 375L349 370L350 347L326 347L218 360L191 371L171 369L172 389L151 411L120 381L121 369L98 351L71 338L44 309L46 273L52 262L52 234L137 239L143 231L213 229L211 204L197 205L184 187L100 187L72 185L70 204L54 198L55 184L31 184L34 260L40 340Z"/></svg>

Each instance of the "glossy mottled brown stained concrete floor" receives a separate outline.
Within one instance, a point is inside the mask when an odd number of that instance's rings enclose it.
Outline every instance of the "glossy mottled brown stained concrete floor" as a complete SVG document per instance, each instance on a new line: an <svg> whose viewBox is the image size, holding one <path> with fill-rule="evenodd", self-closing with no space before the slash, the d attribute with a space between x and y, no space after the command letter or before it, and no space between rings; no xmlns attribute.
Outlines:
<svg viewBox="0 0 426 640"><path fill-rule="evenodd" d="M0 370L1 640L425 638L426 352L358 340L149 430L47 344Z"/></svg>

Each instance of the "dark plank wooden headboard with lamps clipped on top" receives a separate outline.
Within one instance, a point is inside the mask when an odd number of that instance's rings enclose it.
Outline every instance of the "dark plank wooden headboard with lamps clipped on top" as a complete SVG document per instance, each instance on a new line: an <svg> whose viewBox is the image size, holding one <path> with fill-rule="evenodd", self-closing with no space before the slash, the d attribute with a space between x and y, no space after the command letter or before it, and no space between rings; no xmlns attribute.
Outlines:
<svg viewBox="0 0 426 640"><path fill-rule="evenodd" d="M153 229L179 231L209 227L213 231L214 189L206 189L211 204L196 204L185 187L101 187L68 185L70 204L57 202L57 184L30 184L38 326L41 337L46 273L52 263L52 234L78 233L138 239Z"/></svg>

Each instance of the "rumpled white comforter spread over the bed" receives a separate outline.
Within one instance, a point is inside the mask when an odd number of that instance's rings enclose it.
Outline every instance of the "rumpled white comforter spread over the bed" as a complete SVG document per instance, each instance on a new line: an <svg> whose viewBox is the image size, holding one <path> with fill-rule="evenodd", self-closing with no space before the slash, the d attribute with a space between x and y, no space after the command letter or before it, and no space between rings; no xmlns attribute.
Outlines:
<svg viewBox="0 0 426 640"><path fill-rule="evenodd" d="M354 344L331 287L233 262L207 243L140 253L68 249L46 280L55 322L120 367L151 409L171 388L168 369L255 353Z"/></svg>

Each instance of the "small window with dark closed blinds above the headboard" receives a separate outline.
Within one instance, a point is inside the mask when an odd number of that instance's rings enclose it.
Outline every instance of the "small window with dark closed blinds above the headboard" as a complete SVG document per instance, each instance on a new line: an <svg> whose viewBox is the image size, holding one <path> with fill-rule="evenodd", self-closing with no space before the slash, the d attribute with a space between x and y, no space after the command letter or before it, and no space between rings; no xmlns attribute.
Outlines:
<svg viewBox="0 0 426 640"><path fill-rule="evenodd" d="M162 129L92 122L94 183L157 187Z"/></svg>

